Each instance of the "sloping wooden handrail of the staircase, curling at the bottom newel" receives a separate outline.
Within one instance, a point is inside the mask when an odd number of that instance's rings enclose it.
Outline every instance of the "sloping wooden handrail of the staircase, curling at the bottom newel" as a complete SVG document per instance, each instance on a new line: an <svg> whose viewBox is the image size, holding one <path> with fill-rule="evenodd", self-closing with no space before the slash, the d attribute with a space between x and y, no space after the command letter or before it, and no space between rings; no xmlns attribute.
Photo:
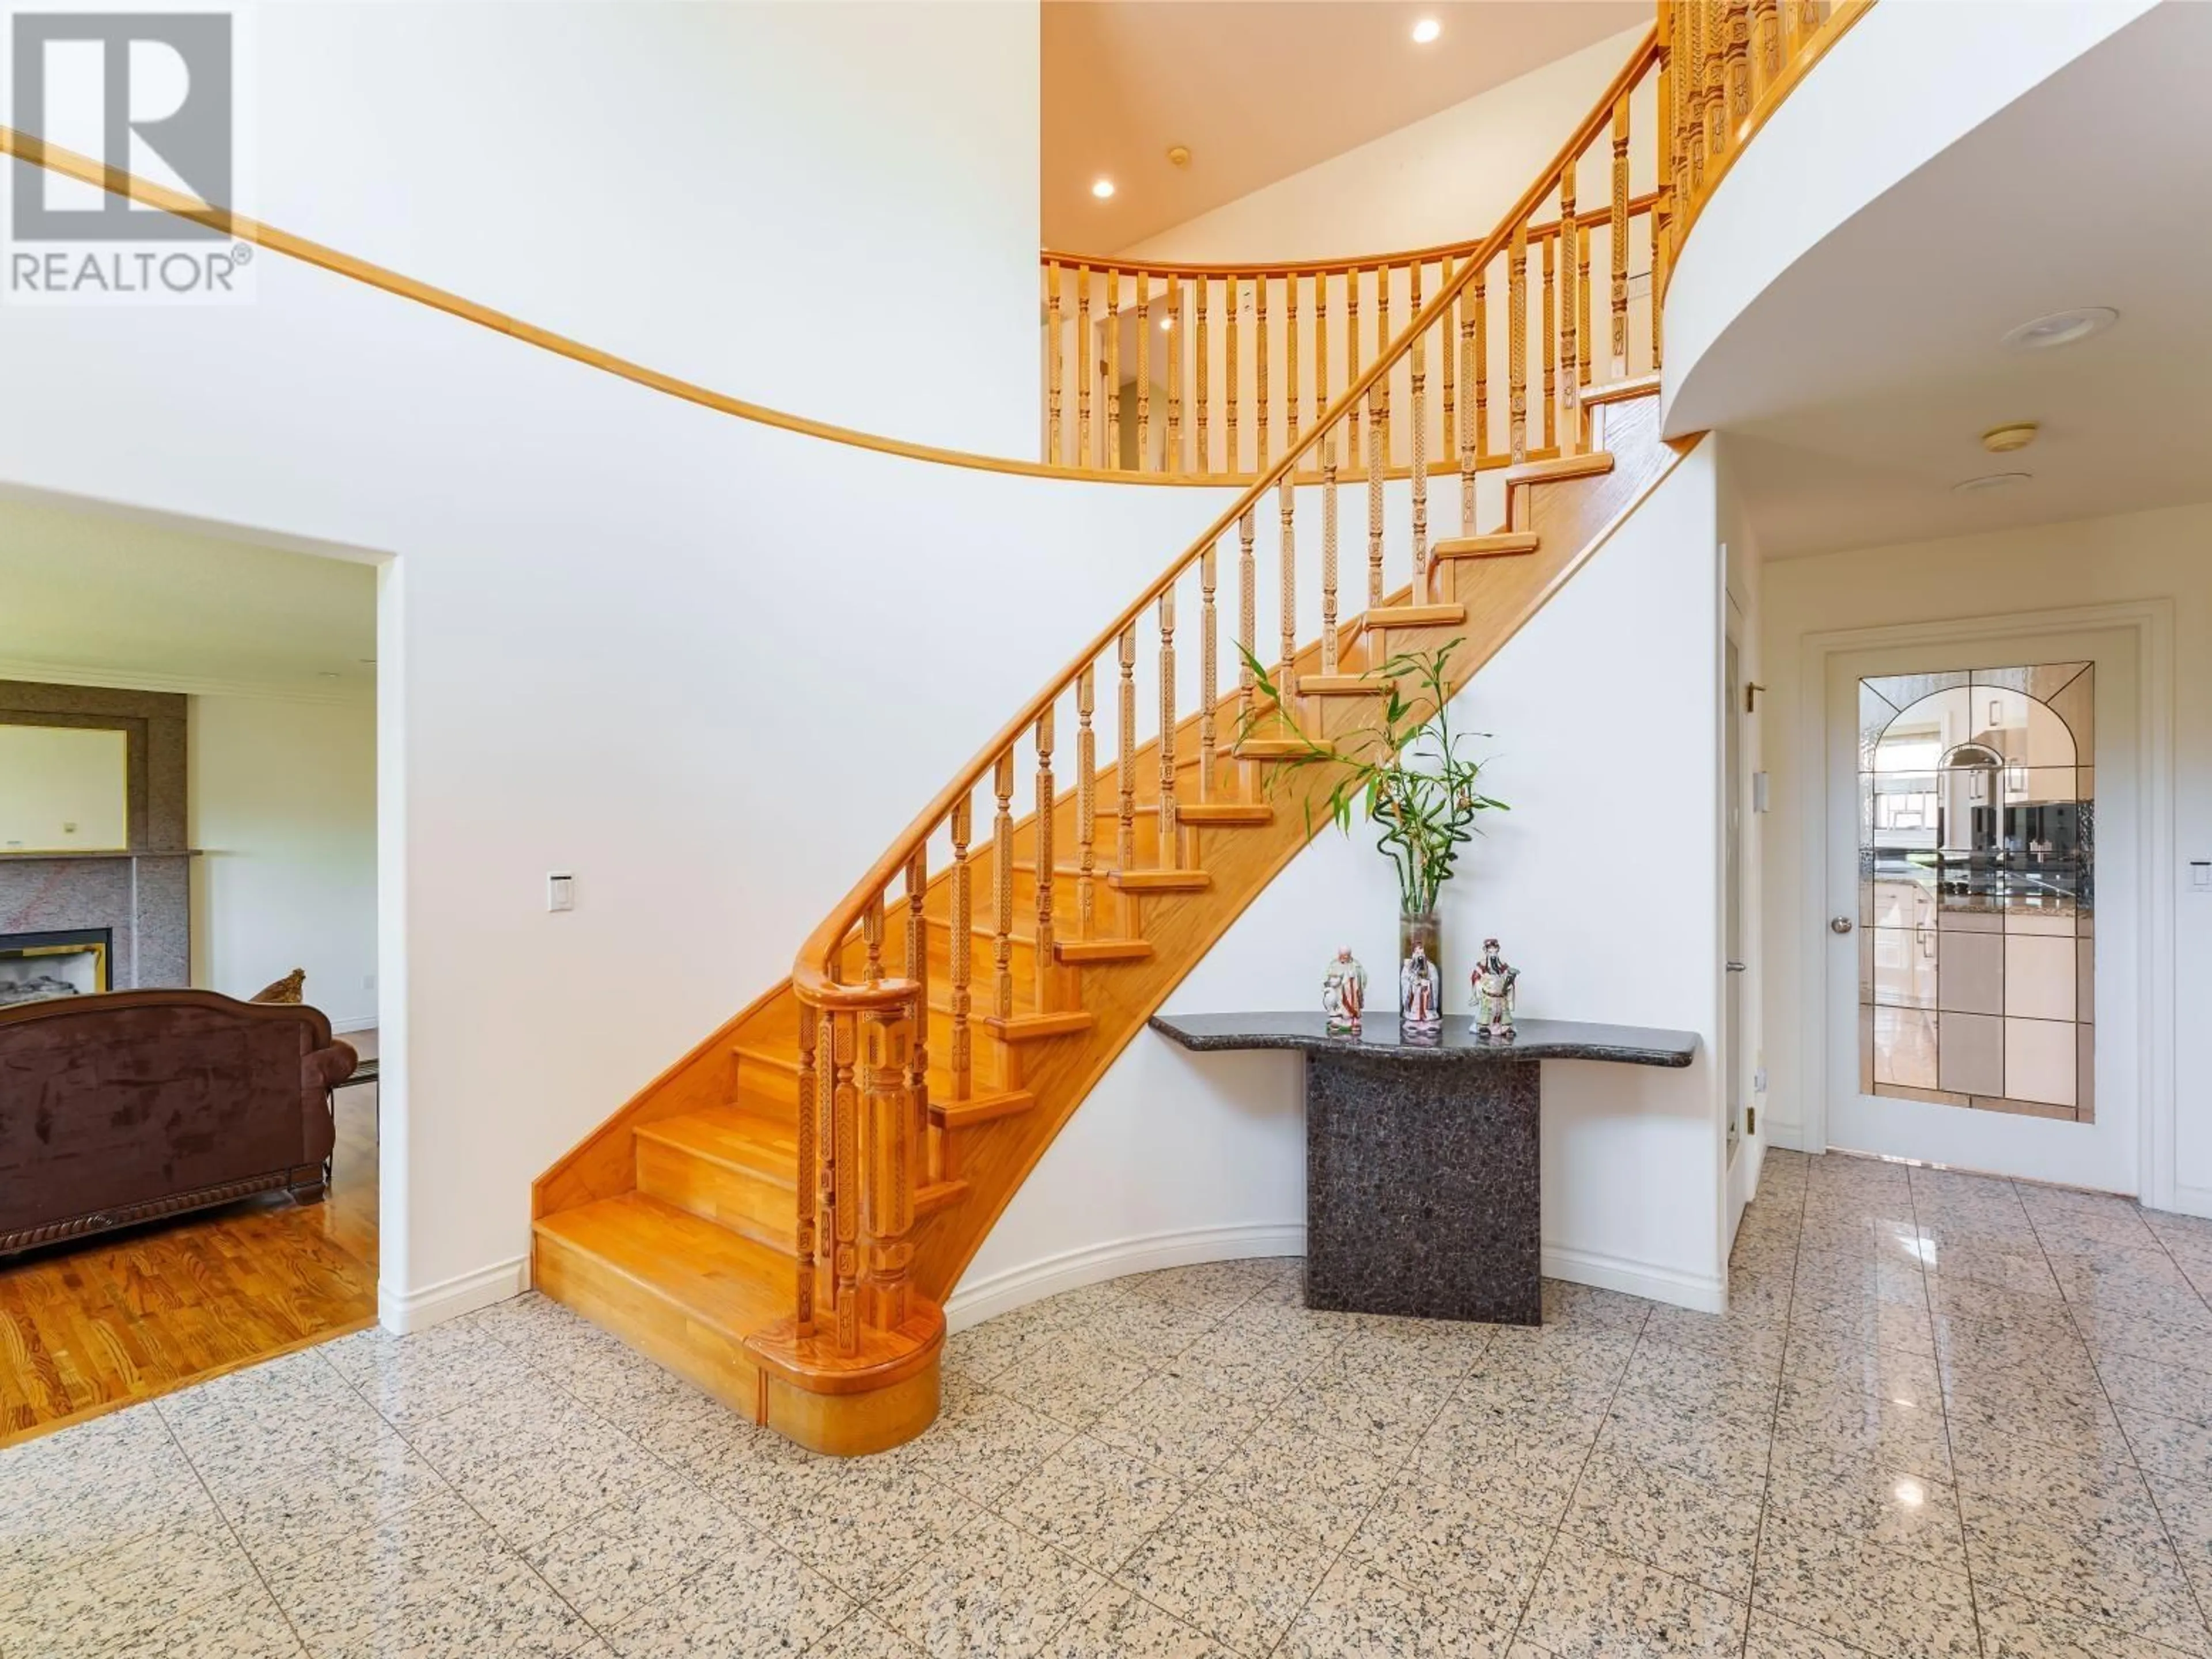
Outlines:
<svg viewBox="0 0 2212 1659"><path fill-rule="evenodd" d="M1254 513L1270 489L1287 478L1298 460L1323 440L1325 434L1334 431L1336 425L1358 409L1367 394L1383 383L1383 378L1398 367L1400 358L1411 352L1416 338L1436 327L1438 319L1451 307L1460 292L1475 279L1478 272L1506 248L1515 232L1526 234L1526 219L1533 215L1544 199L1557 188L1564 168L1575 166L1582 150L1606 131L1613 122L1613 104L1617 97L1626 95L1644 77L1659 58L1657 29L1648 29L1637 42L1635 51L1628 53L1628 62L1621 64L1619 73L1608 82L1606 91L1599 95L1597 104L1588 115L1575 126L1573 135L1559 146L1553 159L1535 175L1535 181L1522 190L1520 199L1506 208L1498 228L1491 230L1471 250L1467 263L1460 272L1444 283L1438 294L1422 305L1389 343L1385 352L1376 356L1354 380L1338 394L1323 416L1283 451L1250 489L1245 489L1232 507L1228 507L1188 549L1161 571L1124 611L1102 628L1091 644L1086 644L1075 659L1060 670L1048 686L1044 686L1035 697L1031 697L1022 710L1002 726L975 757L960 768L951 783L947 783L936 799L900 832L891 843L889 852L876 860L874 867L852 887L852 891L838 902L834 911L814 929L807 942L801 947L799 958L792 964L792 987L799 991L803 1002L830 1009L869 1009L885 1006L885 1002L896 1002L900 995L891 995L885 987L849 987L836 980L838 958L843 956L845 940L852 938L860 918L872 905L880 900L880 894L898 878L914 856L916 847L927 845L936 834L938 825L951 814L958 801L973 794L975 785L987 772L998 763L998 757L1013 748L1024 732L1029 732L1037 717L1044 714L1066 690L1075 684L1086 666L1102 657L1115 641L1130 630L1144 613L1166 593L1186 571L1190 571L1199 557L1212 549L1241 518Z"/></svg>

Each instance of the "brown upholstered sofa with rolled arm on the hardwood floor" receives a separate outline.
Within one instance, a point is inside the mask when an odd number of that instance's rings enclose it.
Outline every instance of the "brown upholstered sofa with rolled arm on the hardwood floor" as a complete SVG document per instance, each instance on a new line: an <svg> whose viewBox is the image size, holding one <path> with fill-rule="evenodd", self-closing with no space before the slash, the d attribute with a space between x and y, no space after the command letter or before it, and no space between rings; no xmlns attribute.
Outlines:
<svg viewBox="0 0 2212 1659"><path fill-rule="evenodd" d="M115 991L0 1009L0 1252L323 1197L354 1051L319 1009Z"/></svg>

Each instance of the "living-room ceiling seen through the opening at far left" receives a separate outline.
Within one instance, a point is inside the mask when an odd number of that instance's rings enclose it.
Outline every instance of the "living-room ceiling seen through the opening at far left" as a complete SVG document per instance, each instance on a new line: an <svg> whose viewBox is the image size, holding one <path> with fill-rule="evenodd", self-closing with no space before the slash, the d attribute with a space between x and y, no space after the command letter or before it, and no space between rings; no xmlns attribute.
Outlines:
<svg viewBox="0 0 2212 1659"><path fill-rule="evenodd" d="M376 568L0 495L0 679L365 697Z"/></svg>

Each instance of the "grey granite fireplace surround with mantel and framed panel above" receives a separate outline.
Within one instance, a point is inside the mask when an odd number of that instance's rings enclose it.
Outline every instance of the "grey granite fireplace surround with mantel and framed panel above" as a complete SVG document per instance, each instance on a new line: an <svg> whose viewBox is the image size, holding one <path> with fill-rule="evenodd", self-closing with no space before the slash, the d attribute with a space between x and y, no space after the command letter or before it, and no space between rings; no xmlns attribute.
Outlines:
<svg viewBox="0 0 2212 1659"><path fill-rule="evenodd" d="M0 723L124 732L128 847L0 854L4 936L106 933L106 989L192 982L186 699L0 679Z"/></svg>

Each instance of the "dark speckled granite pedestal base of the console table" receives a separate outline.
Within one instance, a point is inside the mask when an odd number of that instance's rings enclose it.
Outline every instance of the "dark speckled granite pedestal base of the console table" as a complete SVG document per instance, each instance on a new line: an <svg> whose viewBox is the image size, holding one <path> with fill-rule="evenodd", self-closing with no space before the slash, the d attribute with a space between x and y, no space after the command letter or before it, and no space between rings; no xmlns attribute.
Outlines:
<svg viewBox="0 0 2212 1659"><path fill-rule="evenodd" d="M1537 1062L1305 1055L1305 1305L1542 1325Z"/></svg>

